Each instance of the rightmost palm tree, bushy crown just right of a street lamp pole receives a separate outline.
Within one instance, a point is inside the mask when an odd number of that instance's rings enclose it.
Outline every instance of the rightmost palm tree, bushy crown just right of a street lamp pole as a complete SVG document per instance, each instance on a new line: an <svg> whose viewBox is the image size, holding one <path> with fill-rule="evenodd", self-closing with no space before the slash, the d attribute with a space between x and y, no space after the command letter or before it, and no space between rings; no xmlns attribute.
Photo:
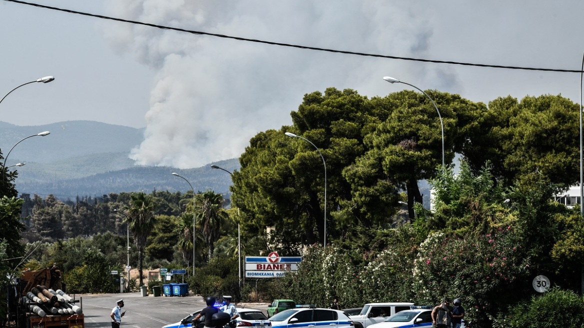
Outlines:
<svg viewBox="0 0 584 328"><path fill-rule="evenodd" d="M203 225L203 236L209 245L208 258L211 259L214 244L219 239L221 225L227 219L227 212L223 208L223 195L208 190L196 194L194 198L195 215L197 221Z"/></svg>

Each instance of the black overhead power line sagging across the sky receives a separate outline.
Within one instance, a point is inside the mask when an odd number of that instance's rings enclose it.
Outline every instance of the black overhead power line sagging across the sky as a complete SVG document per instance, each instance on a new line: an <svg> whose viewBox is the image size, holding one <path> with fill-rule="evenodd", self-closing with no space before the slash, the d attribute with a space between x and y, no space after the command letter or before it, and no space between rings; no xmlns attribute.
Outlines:
<svg viewBox="0 0 584 328"><path fill-rule="evenodd" d="M56 7L51 7L51 6L33 4L32 2L25 2L25 1L18 1L18 0L4 0L4 1L16 2L18 4L29 5L29 6L36 6L36 7L39 7L39 8L51 9L51 10L54 10L54 11L62 11L62 12L67 12L67 13L74 13L74 14L77 14L77 15L91 16L91 17L101 18L101 19L116 20L117 22L124 22L124 23L136 24L136 25L144 25L144 26L156 27L157 29L163 29L163 30L173 30L173 31L178 31L178 32L185 32L185 33L191 33L191 34L199 34L199 35L204 35L204 36L221 37L221 38L224 38L224 39L233 39L233 40L239 40L239 41L247 41L247 42L255 42L255 43L262 43L262 44L270 44L272 46L299 48L299 49L315 50L315 51L326 51L328 53L349 54L349 55L358 55L358 56L366 56L366 57L378 57L378 58L388 58L388 59L407 60L407 61L433 62L433 63L436 63L436 64L451 64L451 65L463 65L463 66L474 66L474 67L489 67L489 68L503 68L503 69L523 69L523 70L527 70L527 71L545 71L545 72L562 72L562 73L582 73L582 70L578 70L578 69L537 68L537 67L519 67L519 66L506 66L506 65L476 64L476 63L471 63L471 62L429 60L429 59L424 59L424 58L398 57L398 56L392 56L392 55L359 53L359 52L356 52L356 51L346 51L346 50L335 50L335 49L319 48L319 47L309 47L309 46L301 46L301 45L298 45L298 44L281 43L281 42L265 41L265 40L258 40L258 39L248 39L248 38L245 38L245 37L228 36L228 35L225 35L225 34L217 34L217 33L208 33L208 32L201 32L201 31L193 31L193 30L179 29L178 27L162 26L162 25L156 25L156 24L138 22L137 20L128 20L128 19L121 19L121 18L114 18L114 17L109 17L109 16L103 16L103 15L95 15L95 14L92 14L92 13L78 12L78 11L72 11L72 10L69 10L69 9L62 9L62 8L56 8Z"/></svg>

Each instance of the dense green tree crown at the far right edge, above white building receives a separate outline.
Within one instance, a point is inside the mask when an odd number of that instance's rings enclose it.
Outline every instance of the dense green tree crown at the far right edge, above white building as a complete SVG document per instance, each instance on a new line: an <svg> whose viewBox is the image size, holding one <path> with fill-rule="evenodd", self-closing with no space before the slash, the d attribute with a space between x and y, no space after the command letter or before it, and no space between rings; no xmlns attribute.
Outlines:
<svg viewBox="0 0 584 328"><path fill-rule="evenodd" d="M490 160L493 176L505 186L530 183L534 172L573 186L579 181L578 108L560 95L526 96L520 102L499 97L488 110L468 115L475 122L460 152L474 172Z"/></svg>

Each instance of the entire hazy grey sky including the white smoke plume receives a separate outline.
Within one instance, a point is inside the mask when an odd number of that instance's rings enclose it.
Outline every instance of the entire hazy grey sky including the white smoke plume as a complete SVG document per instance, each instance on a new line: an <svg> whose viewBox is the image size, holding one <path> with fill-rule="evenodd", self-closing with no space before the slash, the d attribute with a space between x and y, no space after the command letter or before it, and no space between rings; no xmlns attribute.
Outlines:
<svg viewBox="0 0 584 328"><path fill-rule="evenodd" d="M34 0L154 25L429 60L578 70L584 0ZM411 87L488 103L561 95L580 74L467 67L250 43L0 0L0 121L93 120L145 127L131 158L194 168L238 157L260 131L291 124L305 93L385 96Z"/></svg>

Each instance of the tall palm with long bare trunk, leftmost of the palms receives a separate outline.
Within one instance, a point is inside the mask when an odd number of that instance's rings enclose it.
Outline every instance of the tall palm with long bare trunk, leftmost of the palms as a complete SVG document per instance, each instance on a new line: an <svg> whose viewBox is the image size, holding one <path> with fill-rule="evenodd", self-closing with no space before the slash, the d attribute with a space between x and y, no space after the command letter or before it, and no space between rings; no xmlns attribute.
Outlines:
<svg viewBox="0 0 584 328"><path fill-rule="evenodd" d="M152 196L145 193L133 193L130 195L130 206L124 208L129 222L128 228L134 235L134 243L138 248L138 274L140 275L140 286L142 280L142 261L144 260L144 247L146 239L154 228L154 203Z"/></svg>

